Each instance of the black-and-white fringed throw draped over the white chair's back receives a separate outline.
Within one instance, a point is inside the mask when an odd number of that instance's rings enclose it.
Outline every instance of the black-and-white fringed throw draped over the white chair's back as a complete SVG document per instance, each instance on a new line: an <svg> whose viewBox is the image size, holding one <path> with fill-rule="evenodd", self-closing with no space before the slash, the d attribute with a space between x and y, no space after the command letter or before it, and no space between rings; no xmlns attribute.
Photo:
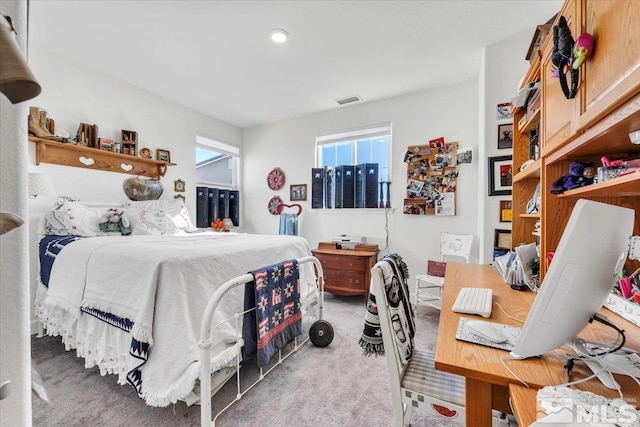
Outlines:
<svg viewBox="0 0 640 427"><path fill-rule="evenodd" d="M413 337L415 336L415 319L409 302L409 287L407 285L407 278L409 277L407 265L399 255L391 254L385 256L377 266L383 271L385 290L385 294L378 296L378 298L387 299L391 323L396 335L396 345L406 363L411 360L413 355ZM365 356L384 356L384 344L382 342L382 331L380 330L374 280L379 280L377 275L372 275L371 277L360 347L362 347Z"/></svg>

